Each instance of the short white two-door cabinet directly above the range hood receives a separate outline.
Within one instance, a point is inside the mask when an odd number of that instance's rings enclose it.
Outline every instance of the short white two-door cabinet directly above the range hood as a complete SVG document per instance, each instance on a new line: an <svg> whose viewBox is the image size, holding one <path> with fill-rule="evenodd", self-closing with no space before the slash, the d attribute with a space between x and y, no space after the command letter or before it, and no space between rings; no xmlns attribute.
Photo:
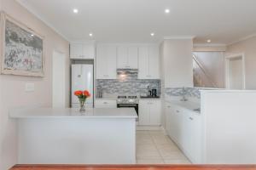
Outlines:
<svg viewBox="0 0 256 170"><path fill-rule="evenodd" d="M137 46L119 45L117 47L117 68L137 69Z"/></svg>

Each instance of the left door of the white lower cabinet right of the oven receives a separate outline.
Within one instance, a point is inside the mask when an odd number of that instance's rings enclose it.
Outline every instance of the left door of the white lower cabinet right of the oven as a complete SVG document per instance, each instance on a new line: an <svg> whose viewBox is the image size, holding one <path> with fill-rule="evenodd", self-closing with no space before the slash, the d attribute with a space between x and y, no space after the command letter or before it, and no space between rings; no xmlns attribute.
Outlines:
<svg viewBox="0 0 256 170"><path fill-rule="evenodd" d="M139 125L149 125L149 107L147 100L139 101Z"/></svg>

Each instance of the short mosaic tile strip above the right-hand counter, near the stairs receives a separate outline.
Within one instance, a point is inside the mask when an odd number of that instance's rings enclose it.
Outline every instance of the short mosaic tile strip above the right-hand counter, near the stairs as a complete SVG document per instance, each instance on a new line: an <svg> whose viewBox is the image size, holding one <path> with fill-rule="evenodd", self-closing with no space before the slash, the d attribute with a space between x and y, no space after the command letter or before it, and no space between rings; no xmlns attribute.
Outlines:
<svg viewBox="0 0 256 170"><path fill-rule="evenodd" d="M183 96L184 93L188 97L195 97L200 99L201 94L199 90L199 88L166 88L165 94L168 96Z"/></svg>

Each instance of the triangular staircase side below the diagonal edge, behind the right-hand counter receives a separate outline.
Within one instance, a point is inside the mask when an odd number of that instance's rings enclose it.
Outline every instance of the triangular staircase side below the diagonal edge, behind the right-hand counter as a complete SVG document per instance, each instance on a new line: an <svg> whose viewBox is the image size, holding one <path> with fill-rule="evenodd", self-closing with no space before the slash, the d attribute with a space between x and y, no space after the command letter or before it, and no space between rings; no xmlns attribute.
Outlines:
<svg viewBox="0 0 256 170"><path fill-rule="evenodd" d="M201 65L200 61L196 59L195 54L193 54L193 80L195 87L201 88L218 88L215 82Z"/></svg>

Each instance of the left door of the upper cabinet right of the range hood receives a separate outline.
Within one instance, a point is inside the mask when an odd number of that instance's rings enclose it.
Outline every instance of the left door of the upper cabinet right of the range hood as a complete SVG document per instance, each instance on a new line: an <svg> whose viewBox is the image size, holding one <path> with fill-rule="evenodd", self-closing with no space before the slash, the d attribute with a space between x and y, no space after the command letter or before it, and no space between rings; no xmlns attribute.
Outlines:
<svg viewBox="0 0 256 170"><path fill-rule="evenodd" d="M148 46L138 49L138 79L148 79Z"/></svg>

